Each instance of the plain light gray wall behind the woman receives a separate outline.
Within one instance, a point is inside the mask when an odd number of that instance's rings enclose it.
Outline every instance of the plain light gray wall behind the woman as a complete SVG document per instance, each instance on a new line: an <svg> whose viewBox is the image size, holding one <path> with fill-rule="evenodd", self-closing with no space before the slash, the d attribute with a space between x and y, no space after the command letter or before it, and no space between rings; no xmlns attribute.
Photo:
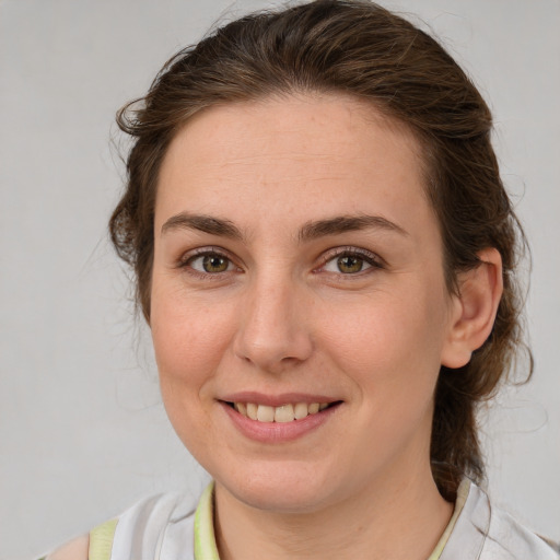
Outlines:
<svg viewBox="0 0 560 560"><path fill-rule="evenodd" d="M494 110L533 247L536 371L485 415L489 487L558 539L560 1L384 4L418 14ZM0 0L1 560L33 558L144 494L205 482L167 423L149 334L106 240L122 173L113 117L217 19L265 5Z"/></svg>

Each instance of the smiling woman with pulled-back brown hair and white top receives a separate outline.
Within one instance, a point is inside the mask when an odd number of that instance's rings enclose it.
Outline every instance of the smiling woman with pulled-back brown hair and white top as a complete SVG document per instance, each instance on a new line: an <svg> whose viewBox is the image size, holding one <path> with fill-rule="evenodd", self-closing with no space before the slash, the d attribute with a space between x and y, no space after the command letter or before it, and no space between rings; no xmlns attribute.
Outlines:
<svg viewBox="0 0 560 560"><path fill-rule="evenodd" d="M440 45L368 2L247 16L119 125L113 241L214 483L51 558L558 558L477 486L523 233L490 112Z"/></svg>

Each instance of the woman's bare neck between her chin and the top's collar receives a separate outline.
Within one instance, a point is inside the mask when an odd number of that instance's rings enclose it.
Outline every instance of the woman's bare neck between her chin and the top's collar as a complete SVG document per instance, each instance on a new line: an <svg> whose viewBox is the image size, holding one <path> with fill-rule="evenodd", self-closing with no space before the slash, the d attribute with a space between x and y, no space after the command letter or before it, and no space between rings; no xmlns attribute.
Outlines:
<svg viewBox="0 0 560 560"><path fill-rule="evenodd" d="M393 469L355 495L306 513L262 511L217 485L214 525L221 560L421 560L452 512L428 465L408 478Z"/></svg>

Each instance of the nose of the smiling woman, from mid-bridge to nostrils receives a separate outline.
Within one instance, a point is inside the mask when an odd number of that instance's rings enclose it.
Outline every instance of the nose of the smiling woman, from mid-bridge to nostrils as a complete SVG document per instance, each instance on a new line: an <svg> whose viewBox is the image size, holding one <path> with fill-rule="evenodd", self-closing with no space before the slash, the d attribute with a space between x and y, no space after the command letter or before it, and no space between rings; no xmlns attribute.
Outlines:
<svg viewBox="0 0 560 560"><path fill-rule="evenodd" d="M247 288L234 340L235 354L259 370L281 373L310 358L313 340L302 290L293 282L260 282Z"/></svg>

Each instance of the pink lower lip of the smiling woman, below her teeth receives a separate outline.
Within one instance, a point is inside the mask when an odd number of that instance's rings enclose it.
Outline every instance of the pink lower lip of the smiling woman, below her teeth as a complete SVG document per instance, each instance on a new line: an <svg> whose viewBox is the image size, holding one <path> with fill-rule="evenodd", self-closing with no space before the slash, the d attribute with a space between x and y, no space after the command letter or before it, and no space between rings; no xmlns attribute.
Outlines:
<svg viewBox="0 0 560 560"><path fill-rule="evenodd" d="M243 435L262 443L290 442L303 438L327 422L340 407L340 404L336 404L316 415L308 415L291 422L259 422L240 415L223 401L220 401L220 405Z"/></svg>

